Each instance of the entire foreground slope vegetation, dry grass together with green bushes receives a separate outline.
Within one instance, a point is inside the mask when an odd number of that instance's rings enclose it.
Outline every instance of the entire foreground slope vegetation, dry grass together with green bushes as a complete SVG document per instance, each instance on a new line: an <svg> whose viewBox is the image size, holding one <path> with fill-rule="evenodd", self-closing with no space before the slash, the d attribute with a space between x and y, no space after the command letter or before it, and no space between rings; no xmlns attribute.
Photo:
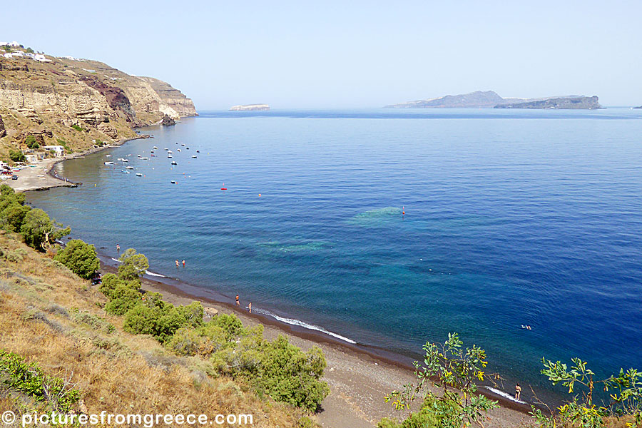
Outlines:
<svg viewBox="0 0 642 428"><path fill-rule="evenodd" d="M39 250L29 248L26 229L7 219L22 195L0 190L0 408L253 414L257 427L315 426L310 410L328 392L320 350L302 352L285 337L268 342L233 315L204 318L198 302L141 294L147 261L134 250L118 275L92 286L72 270L90 276L93 246L43 245L43 228L31 230Z"/></svg>

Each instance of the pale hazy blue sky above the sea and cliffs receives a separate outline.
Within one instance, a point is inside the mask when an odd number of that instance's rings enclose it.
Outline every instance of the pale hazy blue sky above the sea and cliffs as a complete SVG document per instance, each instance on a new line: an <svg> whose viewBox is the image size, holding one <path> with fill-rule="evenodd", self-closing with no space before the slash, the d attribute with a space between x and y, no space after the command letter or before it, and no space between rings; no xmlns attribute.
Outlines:
<svg viewBox="0 0 642 428"><path fill-rule="evenodd" d="M0 41L161 78L199 110L489 89L642 104L640 0L7 1L0 17Z"/></svg>

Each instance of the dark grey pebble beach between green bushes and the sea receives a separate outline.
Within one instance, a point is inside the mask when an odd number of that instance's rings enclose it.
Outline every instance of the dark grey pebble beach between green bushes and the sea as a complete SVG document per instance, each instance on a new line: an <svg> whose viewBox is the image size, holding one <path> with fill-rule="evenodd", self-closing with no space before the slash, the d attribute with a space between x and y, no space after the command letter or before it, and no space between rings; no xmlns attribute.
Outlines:
<svg viewBox="0 0 642 428"><path fill-rule="evenodd" d="M103 272L116 272L113 265L102 264ZM143 277L142 288L146 291L159 292L165 301L173 305L188 305L199 301L203 307L213 308L218 313L235 314L245 326L263 324L264 337L273 340L278 335L285 335L293 345L302 350L313 346L320 347L327 360L323 380L330 386L330 394L322 402L322 410L317 414L322 427L337 428L372 428L383 417L403 419L404 412L395 411L384 401L384 396L394 389L401 389L404 384L412 382L414 374L409 367L399 362L377 357L370 352L343 345L332 337L316 332L294 329L292 326L270 320L258 314L250 314L243 304L240 308L232 302L224 303L205 297L190 295L175 285ZM501 397L501 407L489 412L490 418L484 424L486 428L509 428L528 426L531 418L529 407L510 402ZM419 402L421 400L417 400Z"/></svg>

